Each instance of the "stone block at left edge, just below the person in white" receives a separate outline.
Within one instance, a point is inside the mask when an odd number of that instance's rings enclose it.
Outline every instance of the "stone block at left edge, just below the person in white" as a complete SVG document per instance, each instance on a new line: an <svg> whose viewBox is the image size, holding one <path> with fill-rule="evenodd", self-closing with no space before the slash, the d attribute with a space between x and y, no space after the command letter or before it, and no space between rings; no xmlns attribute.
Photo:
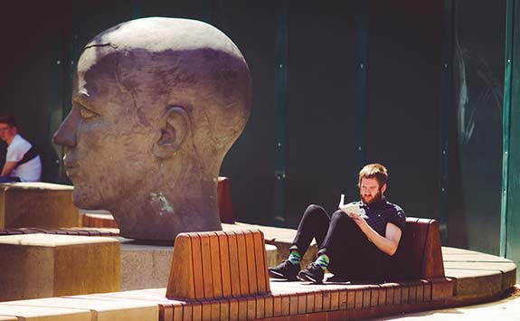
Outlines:
<svg viewBox="0 0 520 321"><path fill-rule="evenodd" d="M0 184L0 230L78 226L80 215L72 203L73 189L41 182Z"/></svg>

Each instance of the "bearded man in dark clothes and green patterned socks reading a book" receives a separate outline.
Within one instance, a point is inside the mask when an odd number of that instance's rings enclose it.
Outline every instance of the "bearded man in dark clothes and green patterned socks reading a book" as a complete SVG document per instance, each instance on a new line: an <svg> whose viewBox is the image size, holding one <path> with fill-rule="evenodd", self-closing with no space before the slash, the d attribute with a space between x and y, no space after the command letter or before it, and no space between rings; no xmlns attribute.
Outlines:
<svg viewBox="0 0 520 321"><path fill-rule="evenodd" d="M326 269L338 280L388 277L406 217L383 196L387 180L383 165L365 165L359 172L360 202L344 206L342 201L332 217L320 206L308 206L288 259L269 269L270 277L321 283ZM300 271L299 262L313 238L319 246L317 260Z"/></svg>

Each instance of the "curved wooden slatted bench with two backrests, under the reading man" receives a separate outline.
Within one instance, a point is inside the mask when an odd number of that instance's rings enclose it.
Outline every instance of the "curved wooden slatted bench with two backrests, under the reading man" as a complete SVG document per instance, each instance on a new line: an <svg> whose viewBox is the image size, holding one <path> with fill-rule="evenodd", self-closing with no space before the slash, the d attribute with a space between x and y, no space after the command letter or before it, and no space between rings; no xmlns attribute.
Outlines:
<svg viewBox="0 0 520 321"><path fill-rule="evenodd" d="M392 282L269 282L261 231L181 233L165 291L170 303L159 304L159 319L188 314L208 320L298 315L343 320L441 307L453 299L435 220L408 218L394 260L400 267L394 272L401 274Z"/></svg>

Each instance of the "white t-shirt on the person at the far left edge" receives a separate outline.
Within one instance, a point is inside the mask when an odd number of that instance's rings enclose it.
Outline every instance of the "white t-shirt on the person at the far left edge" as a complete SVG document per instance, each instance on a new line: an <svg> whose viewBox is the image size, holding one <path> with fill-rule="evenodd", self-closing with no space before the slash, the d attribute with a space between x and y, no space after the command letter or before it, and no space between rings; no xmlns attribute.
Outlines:
<svg viewBox="0 0 520 321"><path fill-rule="evenodd" d="M23 137L16 134L13 141L7 146L6 162L19 162L32 145ZM11 177L19 177L22 182L38 182L42 178L42 160L36 156L30 161L19 165L11 172Z"/></svg>

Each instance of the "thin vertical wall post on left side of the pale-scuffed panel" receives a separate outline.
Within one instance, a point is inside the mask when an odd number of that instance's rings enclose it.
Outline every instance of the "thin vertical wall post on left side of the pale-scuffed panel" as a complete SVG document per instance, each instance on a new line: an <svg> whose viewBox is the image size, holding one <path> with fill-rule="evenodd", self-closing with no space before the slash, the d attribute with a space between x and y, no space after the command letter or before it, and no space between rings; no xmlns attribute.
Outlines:
<svg viewBox="0 0 520 321"><path fill-rule="evenodd" d="M440 67L440 182L439 225L440 240L448 244L448 191L449 191L449 114L453 85L453 9L452 0L444 0L443 33Z"/></svg>

